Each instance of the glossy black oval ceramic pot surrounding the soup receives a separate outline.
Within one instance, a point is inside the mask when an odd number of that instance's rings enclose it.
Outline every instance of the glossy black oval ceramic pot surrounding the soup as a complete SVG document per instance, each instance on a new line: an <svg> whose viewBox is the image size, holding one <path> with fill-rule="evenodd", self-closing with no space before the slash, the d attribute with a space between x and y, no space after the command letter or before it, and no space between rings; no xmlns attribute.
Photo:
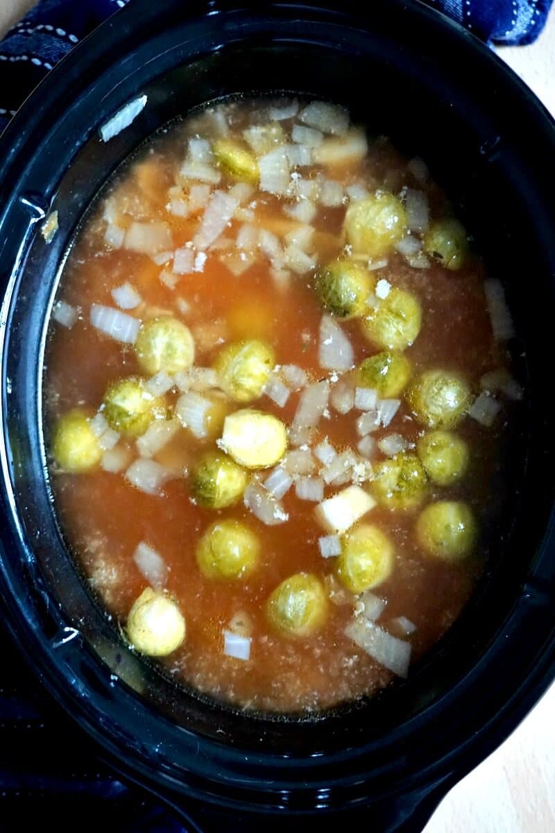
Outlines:
<svg viewBox="0 0 555 833"><path fill-rule="evenodd" d="M127 651L62 543L42 445L42 357L60 268L92 197L168 120L240 92L344 102L429 161L507 287L525 426L487 575L409 681L305 720L177 690ZM98 128L147 95L132 126ZM202 829L418 831L555 671L551 354L555 130L482 43L407 0L133 0L77 47L0 141L0 593L13 637L111 766ZM56 208L47 245L38 228ZM317 815L315 815L317 814ZM341 814L338 819L338 815Z"/></svg>

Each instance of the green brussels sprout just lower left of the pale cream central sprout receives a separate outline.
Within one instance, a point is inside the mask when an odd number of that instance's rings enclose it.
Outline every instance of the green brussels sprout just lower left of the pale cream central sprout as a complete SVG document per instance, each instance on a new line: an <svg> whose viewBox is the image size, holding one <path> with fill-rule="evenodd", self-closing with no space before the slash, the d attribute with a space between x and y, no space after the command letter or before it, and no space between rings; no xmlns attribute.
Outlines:
<svg viewBox="0 0 555 833"><path fill-rule="evenodd" d="M191 495L199 506L223 509L240 499L246 479L246 472L234 461L211 451L191 472Z"/></svg>

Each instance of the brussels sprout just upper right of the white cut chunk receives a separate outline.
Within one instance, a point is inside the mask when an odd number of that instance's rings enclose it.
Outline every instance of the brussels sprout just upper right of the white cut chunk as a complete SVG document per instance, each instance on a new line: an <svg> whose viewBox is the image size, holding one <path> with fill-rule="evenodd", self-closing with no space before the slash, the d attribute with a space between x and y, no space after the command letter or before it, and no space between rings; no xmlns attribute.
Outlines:
<svg viewBox="0 0 555 833"><path fill-rule="evenodd" d="M428 493L428 477L415 454L397 454L374 466L372 494L389 509L414 509Z"/></svg>

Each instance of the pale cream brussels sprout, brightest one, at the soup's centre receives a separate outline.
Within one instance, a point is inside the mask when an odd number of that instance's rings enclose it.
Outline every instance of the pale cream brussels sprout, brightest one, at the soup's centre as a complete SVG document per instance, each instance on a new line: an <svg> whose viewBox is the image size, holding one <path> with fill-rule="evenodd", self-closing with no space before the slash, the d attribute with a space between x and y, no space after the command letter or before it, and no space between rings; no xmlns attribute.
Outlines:
<svg viewBox="0 0 555 833"><path fill-rule="evenodd" d="M284 456L287 432L277 416L243 408L225 417L219 445L240 466L268 468Z"/></svg>

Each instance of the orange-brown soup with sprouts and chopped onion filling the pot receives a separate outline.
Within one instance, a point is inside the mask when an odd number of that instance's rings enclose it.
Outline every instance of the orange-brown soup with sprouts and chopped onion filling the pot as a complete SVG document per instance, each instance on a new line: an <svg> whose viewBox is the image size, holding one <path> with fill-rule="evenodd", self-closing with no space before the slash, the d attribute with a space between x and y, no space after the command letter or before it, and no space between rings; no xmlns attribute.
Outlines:
<svg viewBox="0 0 555 833"><path fill-rule="evenodd" d="M512 322L418 158L236 101L126 162L47 342L67 544L130 650L245 709L370 696L483 571Z"/></svg>

